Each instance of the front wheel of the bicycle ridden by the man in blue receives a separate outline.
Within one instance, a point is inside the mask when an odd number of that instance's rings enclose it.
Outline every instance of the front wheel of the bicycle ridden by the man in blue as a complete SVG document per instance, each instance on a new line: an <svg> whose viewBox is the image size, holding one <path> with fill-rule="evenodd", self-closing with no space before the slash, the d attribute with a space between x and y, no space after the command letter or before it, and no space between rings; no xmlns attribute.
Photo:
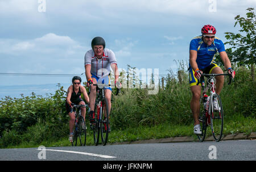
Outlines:
<svg viewBox="0 0 256 172"><path fill-rule="evenodd" d="M217 110L213 108L213 100L217 102ZM216 93L213 94L209 106L210 127L212 128L212 135L215 141L220 141L223 131L223 108L220 96Z"/></svg>

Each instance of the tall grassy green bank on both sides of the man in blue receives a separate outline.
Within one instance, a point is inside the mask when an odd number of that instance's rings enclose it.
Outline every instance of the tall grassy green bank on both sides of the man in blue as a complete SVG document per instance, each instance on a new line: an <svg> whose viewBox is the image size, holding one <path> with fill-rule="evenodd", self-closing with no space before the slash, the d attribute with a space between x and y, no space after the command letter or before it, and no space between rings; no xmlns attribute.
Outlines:
<svg viewBox="0 0 256 172"><path fill-rule="evenodd" d="M255 118L256 87L250 80L250 70L237 67L235 81L228 85L225 78L221 100L225 118L242 114ZM161 123L191 124L193 122L190 109L191 89L188 75L183 68L179 81L171 71L164 78L166 87L159 89L158 94L149 95L146 89L123 89L120 96L114 96L110 121L113 128L154 126Z"/></svg>

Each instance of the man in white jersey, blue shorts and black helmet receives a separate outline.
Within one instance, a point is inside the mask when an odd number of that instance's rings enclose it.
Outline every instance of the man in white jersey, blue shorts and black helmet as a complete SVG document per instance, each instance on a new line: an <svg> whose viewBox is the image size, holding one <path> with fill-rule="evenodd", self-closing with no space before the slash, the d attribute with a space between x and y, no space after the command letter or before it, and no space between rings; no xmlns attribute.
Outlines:
<svg viewBox="0 0 256 172"><path fill-rule="evenodd" d="M118 77L118 67L117 67L117 59L115 59L115 54L112 50L105 48L105 40L102 37L94 37L92 40L92 49L87 51L84 57L84 65L85 65L85 75L87 78L87 84L89 87L89 83L96 84L97 82L101 82L102 84L110 84L110 67L114 71L115 78L115 86ZM112 88L105 87L105 98L108 101L109 105L109 114L111 109L111 96L112 96ZM90 109L89 117L90 121L94 122L94 104L96 100L96 86L91 87L91 91L89 94L90 98Z"/></svg>

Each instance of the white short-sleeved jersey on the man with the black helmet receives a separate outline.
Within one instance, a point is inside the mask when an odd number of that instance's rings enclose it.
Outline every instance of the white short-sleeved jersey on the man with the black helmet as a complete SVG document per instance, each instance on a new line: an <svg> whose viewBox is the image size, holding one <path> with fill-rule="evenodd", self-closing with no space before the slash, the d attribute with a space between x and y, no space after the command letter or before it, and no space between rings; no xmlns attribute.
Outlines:
<svg viewBox="0 0 256 172"><path fill-rule="evenodd" d="M90 72L93 75L96 75L98 78L101 78L101 76L108 75L110 73L110 64L117 64L115 54L110 49L104 49L101 59L96 57L92 49L87 51L85 54L84 65L91 65ZM108 74L106 74L106 72L108 72Z"/></svg>

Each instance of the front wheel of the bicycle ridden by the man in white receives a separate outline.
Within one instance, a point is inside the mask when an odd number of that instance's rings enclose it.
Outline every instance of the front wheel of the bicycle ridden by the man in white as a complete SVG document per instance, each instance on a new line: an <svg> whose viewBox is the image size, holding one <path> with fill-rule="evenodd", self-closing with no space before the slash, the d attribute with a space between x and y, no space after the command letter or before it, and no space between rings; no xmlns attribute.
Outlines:
<svg viewBox="0 0 256 172"><path fill-rule="evenodd" d="M105 117L105 120L101 120L100 122L100 129L101 129L101 141L102 144L105 146L106 143L108 142L108 136L109 136L109 104L108 101L104 100L104 103L102 104L102 107L105 107L105 111L106 111L106 117L103 116L102 113L102 119L103 117ZM102 108L102 112L103 112L103 108Z"/></svg>

